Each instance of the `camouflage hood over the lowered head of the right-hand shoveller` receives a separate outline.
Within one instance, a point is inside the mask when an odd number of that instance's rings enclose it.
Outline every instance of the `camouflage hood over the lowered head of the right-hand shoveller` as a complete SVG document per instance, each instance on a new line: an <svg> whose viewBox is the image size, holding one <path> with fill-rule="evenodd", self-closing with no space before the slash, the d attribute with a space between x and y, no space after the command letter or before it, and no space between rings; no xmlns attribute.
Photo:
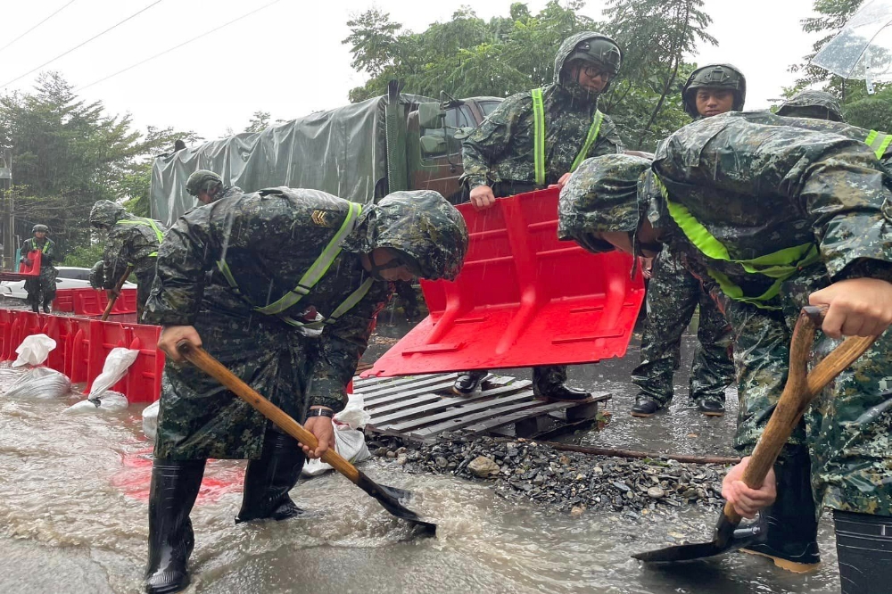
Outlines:
<svg viewBox="0 0 892 594"><path fill-rule="evenodd" d="M646 206L639 185L649 169L649 159L629 154L582 161L560 193L558 239L573 240L589 252L613 250L596 234L638 230Z"/></svg>

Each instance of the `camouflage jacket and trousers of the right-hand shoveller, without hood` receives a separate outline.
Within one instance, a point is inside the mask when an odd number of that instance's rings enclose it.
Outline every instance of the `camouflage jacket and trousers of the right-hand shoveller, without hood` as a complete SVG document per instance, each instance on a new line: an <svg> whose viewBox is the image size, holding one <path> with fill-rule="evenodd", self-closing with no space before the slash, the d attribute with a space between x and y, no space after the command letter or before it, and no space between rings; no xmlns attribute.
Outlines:
<svg viewBox="0 0 892 594"><path fill-rule="evenodd" d="M791 330L808 295L846 278L892 282L892 178L860 132L841 136L845 128L853 127L731 113L681 128L657 151L653 170L665 194L649 216L655 227L672 230L673 251L712 289L734 328L736 445L744 453L780 397ZM678 207L699 227L690 227ZM677 222L685 220L687 232ZM703 237L727 254L721 257L714 245L704 250ZM772 278L747 271L739 260L783 249L803 255L776 294L758 304L731 299L729 282L744 297L771 295ZM804 430L791 439L809 448L815 500L836 509L892 515L890 334L819 395ZM820 357L832 346L819 335L814 351Z"/></svg>

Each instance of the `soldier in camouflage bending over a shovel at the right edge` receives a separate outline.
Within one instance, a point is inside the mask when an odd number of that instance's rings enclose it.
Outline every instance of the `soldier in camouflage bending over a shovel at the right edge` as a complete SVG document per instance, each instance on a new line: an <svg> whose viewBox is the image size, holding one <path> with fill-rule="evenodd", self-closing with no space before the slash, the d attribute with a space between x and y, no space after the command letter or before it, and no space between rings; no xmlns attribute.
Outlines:
<svg viewBox="0 0 892 594"><path fill-rule="evenodd" d="M823 131L815 130L819 126ZM780 465L810 459L815 499L834 510L847 594L876 592L878 583L892 580L892 335L886 331L892 322L892 179L863 144L866 132L767 112L682 128L657 152L657 177L650 182L662 186L660 198L646 205L648 217L637 227L643 241L668 239L731 321L740 396L736 446L743 454L755 447L780 397L802 306L830 306L824 333L815 339L817 357L840 334L885 331L806 410L805 423L779 458ZM560 232L631 249L625 221L611 222L622 200L614 196L602 207L595 195L605 168L594 161L582 165L561 196ZM632 177L640 171L625 172ZM722 208L715 208L716 196ZM642 206L627 197L624 211L640 213ZM754 261L769 255L772 276L761 274L764 265ZM746 464L731 469L723 494L752 517L772 503L775 483L772 473L761 489L748 489L739 480ZM797 499L795 481L781 480L777 488ZM786 523L799 524L789 512L785 507L779 516L786 517L770 523L771 557L793 552L772 537L778 529L781 538L789 536Z"/></svg>

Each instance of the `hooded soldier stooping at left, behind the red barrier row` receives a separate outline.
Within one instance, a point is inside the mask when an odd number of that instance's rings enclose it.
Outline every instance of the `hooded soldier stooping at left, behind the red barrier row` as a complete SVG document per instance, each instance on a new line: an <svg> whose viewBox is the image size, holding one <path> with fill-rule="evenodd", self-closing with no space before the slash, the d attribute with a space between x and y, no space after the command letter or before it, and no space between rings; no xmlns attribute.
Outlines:
<svg viewBox="0 0 892 594"><path fill-rule="evenodd" d="M145 301L149 298L155 279L155 259L158 246L166 229L161 223L145 217L137 217L123 206L109 200L100 200L90 210L90 225L108 233L103 252L102 267L97 262L91 270L91 284L111 293L118 286L121 276L133 266L136 275L136 321L141 321Z"/></svg>

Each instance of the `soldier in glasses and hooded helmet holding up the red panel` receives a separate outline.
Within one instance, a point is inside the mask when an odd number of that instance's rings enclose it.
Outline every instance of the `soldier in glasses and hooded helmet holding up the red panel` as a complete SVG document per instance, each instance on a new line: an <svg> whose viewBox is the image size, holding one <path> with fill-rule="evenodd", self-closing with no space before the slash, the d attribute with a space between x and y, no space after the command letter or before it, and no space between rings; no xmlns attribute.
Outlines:
<svg viewBox="0 0 892 594"><path fill-rule="evenodd" d="M623 151L598 97L619 73L623 54L609 37L583 31L567 38L555 57L554 82L500 103L462 144L461 181L477 209L496 198L563 185L584 159ZM537 127L537 112L541 124ZM537 128L543 133L536 152ZM474 392L485 370L458 376L454 391ZM566 367L533 367L533 391L550 400L582 400L589 392L565 385Z"/></svg>

